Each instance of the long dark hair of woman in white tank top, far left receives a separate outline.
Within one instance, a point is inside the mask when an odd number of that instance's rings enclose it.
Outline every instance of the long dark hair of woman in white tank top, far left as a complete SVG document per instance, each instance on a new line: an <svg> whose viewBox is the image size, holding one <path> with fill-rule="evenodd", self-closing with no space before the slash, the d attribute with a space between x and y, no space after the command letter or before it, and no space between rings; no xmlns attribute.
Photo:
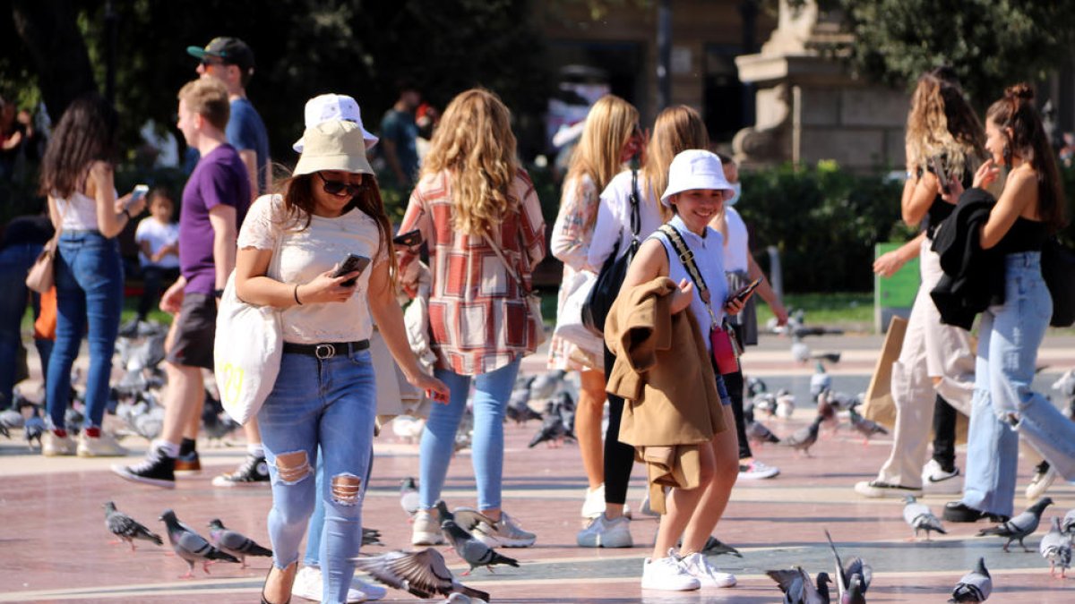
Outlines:
<svg viewBox="0 0 1075 604"><path fill-rule="evenodd" d="M60 117L41 160L41 193L67 199L95 161L115 163L119 114L97 92L78 97Z"/></svg>

